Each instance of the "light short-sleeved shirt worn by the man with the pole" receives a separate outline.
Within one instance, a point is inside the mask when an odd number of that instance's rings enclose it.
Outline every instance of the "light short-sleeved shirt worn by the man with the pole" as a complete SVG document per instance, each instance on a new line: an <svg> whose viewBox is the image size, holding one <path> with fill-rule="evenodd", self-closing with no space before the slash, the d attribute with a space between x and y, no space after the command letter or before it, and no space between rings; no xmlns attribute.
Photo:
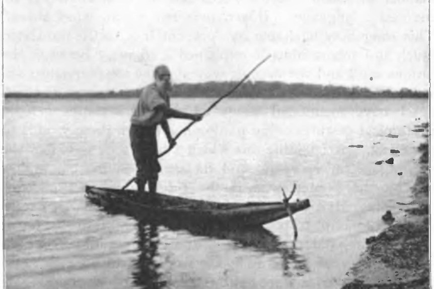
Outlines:
<svg viewBox="0 0 434 289"><path fill-rule="evenodd" d="M170 107L169 95L160 93L155 83L144 87L131 116L131 124L144 127L160 124L164 120L164 114L155 108L161 105Z"/></svg>

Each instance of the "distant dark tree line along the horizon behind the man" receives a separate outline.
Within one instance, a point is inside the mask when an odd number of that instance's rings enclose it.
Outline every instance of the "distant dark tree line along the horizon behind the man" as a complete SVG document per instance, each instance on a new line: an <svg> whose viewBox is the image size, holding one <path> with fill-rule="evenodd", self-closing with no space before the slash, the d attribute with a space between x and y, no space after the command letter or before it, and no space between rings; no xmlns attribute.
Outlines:
<svg viewBox="0 0 434 289"><path fill-rule="evenodd" d="M218 98L238 82L204 82L175 84L173 97ZM92 93L21 93L8 92L5 98L137 98L141 88ZM234 98L428 98L427 91L403 88L399 91L371 91L364 87L344 87L305 83L247 81L231 97Z"/></svg>

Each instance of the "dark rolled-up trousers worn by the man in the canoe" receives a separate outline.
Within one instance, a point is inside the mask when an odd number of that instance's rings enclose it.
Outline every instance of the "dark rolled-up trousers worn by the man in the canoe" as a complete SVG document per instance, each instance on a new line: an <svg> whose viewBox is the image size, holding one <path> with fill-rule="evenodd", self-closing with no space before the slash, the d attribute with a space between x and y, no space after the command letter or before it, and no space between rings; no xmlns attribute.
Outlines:
<svg viewBox="0 0 434 289"><path fill-rule="evenodd" d="M136 182L139 186L146 184L147 181L150 184L156 183L158 173L161 171L156 130L156 126L137 125L131 125L129 129L132 155L137 166Z"/></svg>

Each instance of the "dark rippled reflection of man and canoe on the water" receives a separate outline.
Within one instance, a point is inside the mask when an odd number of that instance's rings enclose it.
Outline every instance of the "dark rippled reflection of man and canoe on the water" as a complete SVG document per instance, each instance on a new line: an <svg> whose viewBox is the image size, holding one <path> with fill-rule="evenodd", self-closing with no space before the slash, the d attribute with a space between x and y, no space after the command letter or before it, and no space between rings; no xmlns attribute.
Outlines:
<svg viewBox="0 0 434 289"><path fill-rule="evenodd" d="M103 209L104 210L104 209ZM107 211L106 211L107 212ZM110 212L107 212L111 214ZM165 273L165 255L170 249L161 250L167 240L165 234L160 234L168 229L172 231L186 230L192 236L209 237L210 239L224 239L233 241L236 248L222 249L222 254L230 254L232 250L254 250L262 253L269 253L270 257L278 262L281 258L281 269L285 276L294 276L296 273L308 273L309 267L306 258L300 254L300 250L286 243L280 242L278 237L262 226L250 228L238 228L236 230L225 228L195 227L188 222L176 224L175 227L169 223L150 222L147 220L137 221L137 239L134 241L138 246L134 253L137 257L133 261L132 280L137 288L163 288L170 282L169 276ZM163 241L163 238L166 240ZM197 248L200 251L203 238L200 238ZM177 242L182 240L177 238ZM166 243L166 246L171 243ZM190 252L194 255L194 252ZM171 257L170 259L172 259ZM182 258L182 256L181 256ZM223 260L224 261L224 260ZM172 262L174 260L172 259ZM176 261L175 261L176 262ZM224 261L225 262L225 261ZM274 261L273 261L274 262ZM277 264L277 263L276 263ZM170 275L170 273L169 273ZM170 287L170 286L168 286Z"/></svg>

